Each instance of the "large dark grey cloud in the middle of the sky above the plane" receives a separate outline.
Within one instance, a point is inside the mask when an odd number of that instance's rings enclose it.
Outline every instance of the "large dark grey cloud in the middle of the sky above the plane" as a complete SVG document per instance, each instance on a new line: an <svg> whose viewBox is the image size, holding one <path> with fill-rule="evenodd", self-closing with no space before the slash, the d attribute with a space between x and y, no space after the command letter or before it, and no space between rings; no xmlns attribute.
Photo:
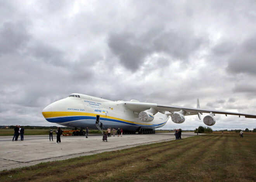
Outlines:
<svg viewBox="0 0 256 182"><path fill-rule="evenodd" d="M112 33L108 39L111 51L119 57L122 65L132 71L138 70L145 58L153 53L165 53L174 60L187 62L189 56L206 43L207 36L195 36L193 31L159 29L152 29L140 36L128 32Z"/></svg>

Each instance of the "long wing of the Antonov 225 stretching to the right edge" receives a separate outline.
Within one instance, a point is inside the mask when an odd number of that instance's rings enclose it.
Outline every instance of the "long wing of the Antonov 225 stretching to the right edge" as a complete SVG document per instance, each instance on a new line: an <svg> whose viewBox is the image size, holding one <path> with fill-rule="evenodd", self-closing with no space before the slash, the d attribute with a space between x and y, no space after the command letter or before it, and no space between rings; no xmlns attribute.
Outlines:
<svg viewBox="0 0 256 182"><path fill-rule="evenodd" d="M124 102L125 107L131 109L134 112L142 112L151 107L156 109L159 112L169 111L169 112L179 112L181 110L187 112L186 115L194 115L197 113L213 113L213 114L225 114L225 115L237 115L237 116L245 116L247 118L256 118L254 114L245 114L239 112L227 112L227 111L216 111L216 110L208 110L208 109L199 109L199 108L190 108L190 107L181 107L174 105L163 105L163 104L154 104L154 103L144 103L144 102Z"/></svg>

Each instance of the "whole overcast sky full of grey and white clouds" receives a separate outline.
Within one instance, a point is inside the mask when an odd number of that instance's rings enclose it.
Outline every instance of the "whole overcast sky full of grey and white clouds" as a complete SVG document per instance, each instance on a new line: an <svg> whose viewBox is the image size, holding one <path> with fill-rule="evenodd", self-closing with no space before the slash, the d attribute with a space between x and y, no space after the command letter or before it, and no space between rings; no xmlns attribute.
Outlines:
<svg viewBox="0 0 256 182"><path fill-rule="evenodd" d="M74 92L256 114L255 64L253 0L0 1L0 125L51 126L42 109Z"/></svg>

